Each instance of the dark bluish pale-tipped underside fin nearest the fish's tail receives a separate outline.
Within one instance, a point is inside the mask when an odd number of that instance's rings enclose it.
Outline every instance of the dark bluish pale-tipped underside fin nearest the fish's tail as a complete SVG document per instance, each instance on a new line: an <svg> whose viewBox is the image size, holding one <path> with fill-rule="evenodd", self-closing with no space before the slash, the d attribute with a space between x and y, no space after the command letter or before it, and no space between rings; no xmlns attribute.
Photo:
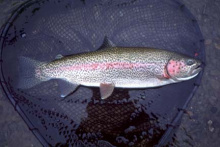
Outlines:
<svg viewBox="0 0 220 147"><path fill-rule="evenodd" d="M60 90L60 97L62 97L62 98L65 98L69 94L76 91L77 87L79 86L79 84L77 84L77 83L71 83L66 80L61 80L61 79L57 80L57 83L58 83L58 87Z"/></svg>

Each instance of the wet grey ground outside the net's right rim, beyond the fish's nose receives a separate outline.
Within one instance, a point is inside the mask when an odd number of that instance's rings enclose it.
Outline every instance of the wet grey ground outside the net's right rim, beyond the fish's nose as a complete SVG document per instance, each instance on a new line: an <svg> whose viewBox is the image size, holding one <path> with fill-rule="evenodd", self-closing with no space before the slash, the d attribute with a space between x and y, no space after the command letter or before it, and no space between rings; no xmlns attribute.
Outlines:
<svg viewBox="0 0 220 147"><path fill-rule="evenodd" d="M201 86L176 133L175 146L217 147L220 140L220 1L184 0L197 18L206 45Z"/></svg>

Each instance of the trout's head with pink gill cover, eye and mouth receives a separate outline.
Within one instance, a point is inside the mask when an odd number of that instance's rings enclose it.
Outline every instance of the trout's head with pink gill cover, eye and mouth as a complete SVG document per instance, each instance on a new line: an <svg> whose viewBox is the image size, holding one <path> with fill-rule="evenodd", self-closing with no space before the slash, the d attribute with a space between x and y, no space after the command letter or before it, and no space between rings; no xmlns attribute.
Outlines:
<svg viewBox="0 0 220 147"><path fill-rule="evenodd" d="M184 55L177 55L171 58L166 65L168 76L175 81L192 79L201 70L201 61Z"/></svg>

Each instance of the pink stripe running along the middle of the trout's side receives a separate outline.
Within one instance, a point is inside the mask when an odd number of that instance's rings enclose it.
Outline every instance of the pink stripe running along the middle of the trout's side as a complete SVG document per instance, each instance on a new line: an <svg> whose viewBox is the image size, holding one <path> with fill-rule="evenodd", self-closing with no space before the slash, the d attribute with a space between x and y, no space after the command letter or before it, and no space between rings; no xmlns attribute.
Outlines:
<svg viewBox="0 0 220 147"><path fill-rule="evenodd" d="M143 63L126 63L126 62L112 62L112 63L91 63L91 64L81 64L73 66L63 66L58 68L58 70L106 70L106 69L132 69L137 67L147 67L156 64L143 64Z"/></svg>

